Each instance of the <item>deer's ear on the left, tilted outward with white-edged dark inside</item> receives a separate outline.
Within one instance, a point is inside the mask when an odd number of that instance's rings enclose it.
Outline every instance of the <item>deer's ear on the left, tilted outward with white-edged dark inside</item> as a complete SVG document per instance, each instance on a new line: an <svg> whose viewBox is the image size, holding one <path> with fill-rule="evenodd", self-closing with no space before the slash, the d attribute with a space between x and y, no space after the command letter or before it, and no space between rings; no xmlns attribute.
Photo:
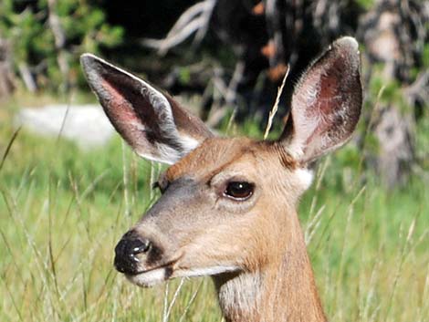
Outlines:
<svg viewBox="0 0 429 322"><path fill-rule="evenodd" d="M213 136L201 119L131 73L90 54L80 63L111 123L141 157L173 164Z"/></svg>

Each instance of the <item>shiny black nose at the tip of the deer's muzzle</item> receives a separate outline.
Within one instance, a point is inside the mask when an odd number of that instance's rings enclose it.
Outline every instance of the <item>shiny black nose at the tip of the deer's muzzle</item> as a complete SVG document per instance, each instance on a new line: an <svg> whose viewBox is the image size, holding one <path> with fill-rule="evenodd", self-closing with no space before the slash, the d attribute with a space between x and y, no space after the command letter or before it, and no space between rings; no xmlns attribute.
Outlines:
<svg viewBox="0 0 429 322"><path fill-rule="evenodd" d="M152 243L133 232L124 234L115 248L115 267L120 273L138 273L139 258L137 254L147 253Z"/></svg>

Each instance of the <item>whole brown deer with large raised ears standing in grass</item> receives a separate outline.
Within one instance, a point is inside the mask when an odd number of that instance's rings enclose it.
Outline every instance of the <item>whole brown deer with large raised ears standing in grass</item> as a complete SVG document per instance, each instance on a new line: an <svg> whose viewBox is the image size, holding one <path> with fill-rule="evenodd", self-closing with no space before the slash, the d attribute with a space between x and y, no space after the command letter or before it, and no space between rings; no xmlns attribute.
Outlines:
<svg viewBox="0 0 429 322"><path fill-rule="evenodd" d="M227 322L326 321L297 206L310 165L351 139L361 114L357 41L334 41L294 87L277 140L219 136L167 93L84 54L113 127L139 156L168 164L161 197L115 247L134 285L211 276Z"/></svg>

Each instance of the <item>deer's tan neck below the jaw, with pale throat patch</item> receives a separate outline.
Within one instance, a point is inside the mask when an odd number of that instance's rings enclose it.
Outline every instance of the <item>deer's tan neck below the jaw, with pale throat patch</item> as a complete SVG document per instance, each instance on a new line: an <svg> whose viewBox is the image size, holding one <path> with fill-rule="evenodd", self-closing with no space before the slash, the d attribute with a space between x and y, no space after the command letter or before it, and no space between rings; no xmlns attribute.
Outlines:
<svg viewBox="0 0 429 322"><path fill-rule="evenodd" d="M296 213L282 257L253 273L214 277L227 322L321 322L320 305Z"/></svg>

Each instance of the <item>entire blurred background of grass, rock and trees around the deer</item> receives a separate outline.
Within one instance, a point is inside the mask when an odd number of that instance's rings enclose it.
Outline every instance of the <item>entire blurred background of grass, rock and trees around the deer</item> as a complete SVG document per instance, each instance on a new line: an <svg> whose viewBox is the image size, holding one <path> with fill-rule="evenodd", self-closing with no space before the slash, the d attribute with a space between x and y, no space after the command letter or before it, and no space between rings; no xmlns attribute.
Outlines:
<svg viewBox="0 0 429 322"><path fill-rule="evenodd" d="M361 46L361 121L300 207L320 294L331 321L429 321L424 0L0 0L0 319L221 320L208 279L141 290L113 270L162 167L114 133L82 53L262 139L285 75L269 138L299 76L346 35Z"/></svg>

